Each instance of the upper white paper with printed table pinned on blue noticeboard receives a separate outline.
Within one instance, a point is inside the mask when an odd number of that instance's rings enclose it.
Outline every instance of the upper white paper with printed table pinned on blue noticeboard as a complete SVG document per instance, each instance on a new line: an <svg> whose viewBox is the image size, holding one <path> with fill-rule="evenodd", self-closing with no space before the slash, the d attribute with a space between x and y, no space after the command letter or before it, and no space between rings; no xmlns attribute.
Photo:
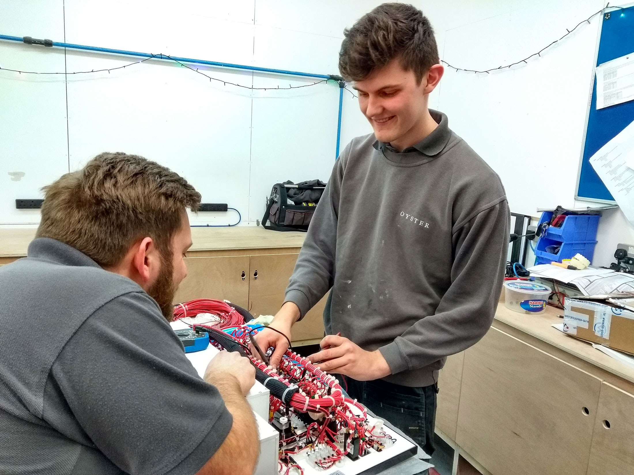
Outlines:
<svg viewBox="0 0 634 475"><path fill-rule="evenodd" d="M634 53L597 66L597 109L634 99Z"/></svg>

